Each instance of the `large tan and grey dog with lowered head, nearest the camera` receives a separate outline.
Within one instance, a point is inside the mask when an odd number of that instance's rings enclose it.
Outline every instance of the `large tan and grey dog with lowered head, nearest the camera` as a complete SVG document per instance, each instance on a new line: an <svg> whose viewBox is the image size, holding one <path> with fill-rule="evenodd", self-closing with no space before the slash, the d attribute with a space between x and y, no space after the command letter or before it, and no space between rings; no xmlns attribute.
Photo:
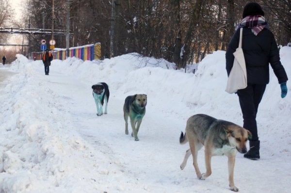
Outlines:
<svg viewBox="0 0 291 193"><path fill-rule="evenodd" d="M231 122L217 120L204 114L197 114L190 117L186 124L185 135L180 136L180 144L189 141L190 149L186 151L181 170L187 164L187 159L192 154L193 165L199 179L206 179L211 175L211 157L226 155L228 157L228 181L230 190L238 192L233 182L233 170L237 151L246 153L246 141L252 137L250 131ZM201 174L197 153L202 146L205 146L206 173Z"/></svg>

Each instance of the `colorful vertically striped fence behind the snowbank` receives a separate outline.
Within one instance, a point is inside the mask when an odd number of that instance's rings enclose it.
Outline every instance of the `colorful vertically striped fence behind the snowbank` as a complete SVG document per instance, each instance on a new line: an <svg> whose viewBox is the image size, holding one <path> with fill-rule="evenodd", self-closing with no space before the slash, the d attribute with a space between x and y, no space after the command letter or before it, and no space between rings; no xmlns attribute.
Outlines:
<svg viewBox="0 0 291 193"><path fill-rule="evenodd" d="M53 59L65 60L66 49L54 49ZM42 52L30 53L29 59L41 60ZM77 57L82 60L100 60L101 59L101 44L89 44L85 46L69 48L69 57Z"/></svg>

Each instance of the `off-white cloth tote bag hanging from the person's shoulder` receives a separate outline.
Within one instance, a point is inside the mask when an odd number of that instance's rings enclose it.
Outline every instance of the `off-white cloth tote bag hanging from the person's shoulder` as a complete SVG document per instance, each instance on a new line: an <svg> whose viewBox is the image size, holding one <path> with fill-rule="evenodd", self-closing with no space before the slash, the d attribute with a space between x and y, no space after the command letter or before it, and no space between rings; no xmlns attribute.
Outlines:
<svg viewBox="0 0 291 193"><path fill-rule="evenodd" d="M230 94L238 91L238 89L247 87L245 61L242 52L242 28L240 33L239 47L236 49L233 55L233 67L230 70L226 84L226 92Z"/></svg>

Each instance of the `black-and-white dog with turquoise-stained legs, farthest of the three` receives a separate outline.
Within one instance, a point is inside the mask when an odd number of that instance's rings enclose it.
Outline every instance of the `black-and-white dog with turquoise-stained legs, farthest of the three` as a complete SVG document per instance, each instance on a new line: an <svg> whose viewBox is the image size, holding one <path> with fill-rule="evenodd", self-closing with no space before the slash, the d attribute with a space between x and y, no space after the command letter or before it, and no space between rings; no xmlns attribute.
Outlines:
<svg viewBox="0 0 291 193"><path fill-rule="evenodd" d="M109 100L109 88L106 83L97 83L92 86L93 97L97 108L97 116L103 115L103 105L105 102L104 114L107 114L107 104Z"/></svg>

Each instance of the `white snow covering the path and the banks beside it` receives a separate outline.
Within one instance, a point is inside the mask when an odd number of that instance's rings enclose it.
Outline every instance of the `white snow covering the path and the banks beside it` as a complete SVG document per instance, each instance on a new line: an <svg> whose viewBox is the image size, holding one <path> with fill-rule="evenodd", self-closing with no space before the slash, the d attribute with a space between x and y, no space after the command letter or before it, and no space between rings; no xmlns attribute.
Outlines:
<svg viewBox="0 0 291 193"><path fill-rule="evenodd" d="M291 77L291 47L280 51ZM212 175L196 178L192 158L179 165L188 143L179 144L186 120L209 114L242 125L235 94L225 92L225 52L208 55L196 73L173 70L164 60L126 54L104 61L42 61L17 55L0 73L0 193L230 193L227 158L212 158ZM241 193L288 193L291 189L291 83L280 97L270 83L259 106L259 161L237 154L234 182ZM108 114L96 116L91 86L110 88ZM123 103L147 94L138 134L125 135ZM131 127L129 126L129 132ZM198 163L205 172L204 151Z"/></svg>

